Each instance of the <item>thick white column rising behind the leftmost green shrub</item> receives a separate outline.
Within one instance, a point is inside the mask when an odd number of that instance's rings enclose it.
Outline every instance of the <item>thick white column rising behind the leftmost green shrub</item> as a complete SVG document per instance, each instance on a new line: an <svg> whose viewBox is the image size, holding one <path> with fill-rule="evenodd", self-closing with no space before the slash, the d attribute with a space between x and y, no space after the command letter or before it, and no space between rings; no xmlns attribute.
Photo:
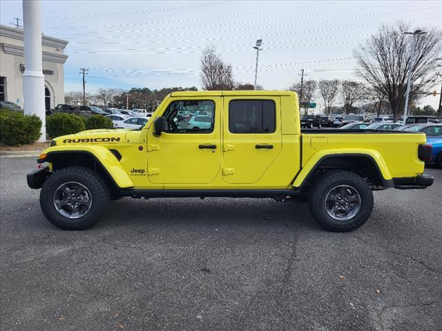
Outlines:
<svg viewBox="0 0 442 331"><path fill-rule="evenodd" d="M23 72L23 109L41 119L39 141L46 141L46 110L43 60L41 58L41 2L23 0L25 72Z"/></svg>

